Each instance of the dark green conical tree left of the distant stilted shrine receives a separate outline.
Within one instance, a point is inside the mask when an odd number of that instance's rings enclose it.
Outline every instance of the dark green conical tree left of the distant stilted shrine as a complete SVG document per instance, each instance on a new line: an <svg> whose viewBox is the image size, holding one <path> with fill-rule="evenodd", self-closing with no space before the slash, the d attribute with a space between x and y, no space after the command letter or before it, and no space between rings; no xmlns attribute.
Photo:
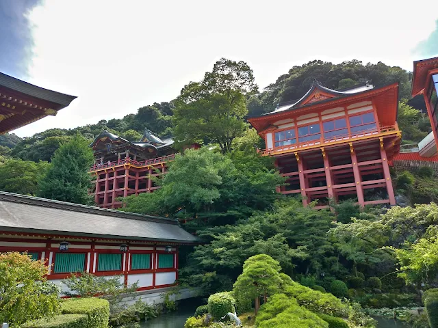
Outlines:
<svg viewBox="0 0 438 328"><path fill-rule="evenodd" d="M88 193L92 188L92 177L88 169L93 161L88 141L76 135L56 150L51 167L40 180L38 195L52 200L90 204L92 200Z"/></svg>

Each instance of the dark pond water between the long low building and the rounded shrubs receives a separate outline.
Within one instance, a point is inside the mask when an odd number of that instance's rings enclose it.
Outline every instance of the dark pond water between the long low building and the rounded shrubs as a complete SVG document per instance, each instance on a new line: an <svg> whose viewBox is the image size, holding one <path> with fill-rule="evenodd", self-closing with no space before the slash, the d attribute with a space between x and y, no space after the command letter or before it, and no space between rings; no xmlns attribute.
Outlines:
<svg viewBox="0 0 438 328"><path fill-rule="evenodd" d="M178 310L175 312L165 313L157 318L153 318L146 322L142 321L142 328L183 328L185 320L189 316L193 316L194 310L202 305L201 299L183 299L179 301Z"/></svg>

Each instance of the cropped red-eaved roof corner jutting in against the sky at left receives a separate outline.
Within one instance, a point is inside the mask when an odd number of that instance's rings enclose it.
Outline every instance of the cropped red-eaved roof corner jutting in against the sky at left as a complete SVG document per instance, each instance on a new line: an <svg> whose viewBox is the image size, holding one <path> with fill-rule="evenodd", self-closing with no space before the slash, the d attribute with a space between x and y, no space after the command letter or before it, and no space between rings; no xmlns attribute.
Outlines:
<svg viewBox="0 0 438 328"><path fill-rule="evenodd" d="M0 72L0 135L47 115L55 116L75 98Z"/></svg>

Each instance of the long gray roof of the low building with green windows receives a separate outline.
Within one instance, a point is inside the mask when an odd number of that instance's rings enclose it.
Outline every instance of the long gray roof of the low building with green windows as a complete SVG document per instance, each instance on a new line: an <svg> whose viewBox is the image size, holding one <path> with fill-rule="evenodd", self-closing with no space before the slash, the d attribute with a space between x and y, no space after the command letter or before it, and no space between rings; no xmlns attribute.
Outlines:
<svg viewBox="0 0 438 328"><path fill-rule="evenodd" d="M197 243L177 219L152 217L0 191L0 231Z"/></svg>

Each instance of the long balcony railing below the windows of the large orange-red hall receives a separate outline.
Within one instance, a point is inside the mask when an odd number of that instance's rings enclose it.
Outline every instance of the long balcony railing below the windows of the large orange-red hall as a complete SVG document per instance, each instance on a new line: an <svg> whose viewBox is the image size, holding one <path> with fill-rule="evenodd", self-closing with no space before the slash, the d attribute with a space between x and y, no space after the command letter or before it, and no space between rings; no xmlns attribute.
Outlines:
<svg viewBox="0 0 438 328"><path fill-rule="evenodd" d="M348 133L346 135L336 135L333 137L329 137L329 138L320 138L320 139L315 139L315 140L311 140L311 141L303 141L303 142L299 142L299 143L293 143L291 145L287 145L287 146L279 146L279 147L274 147L274 148L270 148L270 149L263 149L260 150L261 154L275 154L276 152L285 152L288 150L291 151L296 151L296 150L300 150L301 148L308 148L308 147L322 147L324 145L328 145L330 143L335 143L335 142L339 142L339 141L352 141L356 138L361 138L361 137L369 137L369 136L373 136L376 135L376 137L382 133L389 133L389 132L398 132L398 126L396 125L392 125L392 126L381 126L378 128L373 128L370 130L365 130L365 131L358 131L355 133ZM324 133L322 133L322 135L324 135Z"/></svg>

